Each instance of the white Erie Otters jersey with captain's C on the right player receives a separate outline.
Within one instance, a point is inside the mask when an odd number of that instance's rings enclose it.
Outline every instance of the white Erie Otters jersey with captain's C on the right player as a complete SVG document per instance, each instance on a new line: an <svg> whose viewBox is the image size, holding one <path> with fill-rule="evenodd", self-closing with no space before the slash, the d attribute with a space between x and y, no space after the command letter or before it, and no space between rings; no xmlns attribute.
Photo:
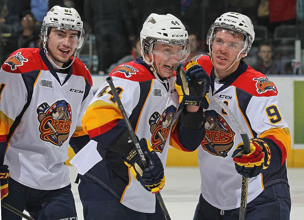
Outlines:
<svg viewBox="0 0 304 220"><path fill-rule="evenodd" d="M199 146L203 198L219 209L240 207L242 176L235 170L231 155L243 141L215 98L233 111L249 138L263 138L271 150L271 159L267 161L269 167L249 179L247 202L256 198L265 187L278 182L288 184L285 159L291 140L288 125L278 108L278 91L274 83L243 61L234 73L218 80L209 56L199 55L192 60L202 65L211 81L210 106L204 112L206 136Z"/></svg>

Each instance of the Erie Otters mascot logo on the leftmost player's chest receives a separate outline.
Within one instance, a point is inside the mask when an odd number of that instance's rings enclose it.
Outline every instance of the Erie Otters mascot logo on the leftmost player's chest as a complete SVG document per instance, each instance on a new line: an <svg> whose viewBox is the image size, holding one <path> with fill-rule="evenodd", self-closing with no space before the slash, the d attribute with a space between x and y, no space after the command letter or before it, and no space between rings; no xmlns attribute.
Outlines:
<svg viewBox="0 0 304 220"><path fill-rule="evenodd" d="M40 138L61 147L67 140L71 128L71 106L60 100L49 106L46 102L37 108L40 122Z"/></svg>

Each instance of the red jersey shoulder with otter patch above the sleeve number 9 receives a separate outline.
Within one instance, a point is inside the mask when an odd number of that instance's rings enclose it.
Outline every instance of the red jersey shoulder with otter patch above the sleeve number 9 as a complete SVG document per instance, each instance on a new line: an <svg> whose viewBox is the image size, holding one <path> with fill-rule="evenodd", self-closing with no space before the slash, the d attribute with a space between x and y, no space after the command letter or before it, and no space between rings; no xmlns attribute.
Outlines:
<svg viewBox="0 0 304 220"><path fill-rule="evenodd" d="M278 94L275 84L250 66L232 83L232 86L254 96L276 96Z"/></svg>

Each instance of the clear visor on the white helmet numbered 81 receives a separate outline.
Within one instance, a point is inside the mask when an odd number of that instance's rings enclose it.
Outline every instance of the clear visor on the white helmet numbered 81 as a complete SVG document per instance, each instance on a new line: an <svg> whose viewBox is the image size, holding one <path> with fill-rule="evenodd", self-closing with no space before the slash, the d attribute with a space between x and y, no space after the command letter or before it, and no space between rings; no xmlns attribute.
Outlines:
<svg viewBox="0 0 304 220"><path fill-rule="evenodd" d="M84 31L52 27L50 33L44 36L44 41L52 45L64 45L78 49L84 41Z"/></svg>

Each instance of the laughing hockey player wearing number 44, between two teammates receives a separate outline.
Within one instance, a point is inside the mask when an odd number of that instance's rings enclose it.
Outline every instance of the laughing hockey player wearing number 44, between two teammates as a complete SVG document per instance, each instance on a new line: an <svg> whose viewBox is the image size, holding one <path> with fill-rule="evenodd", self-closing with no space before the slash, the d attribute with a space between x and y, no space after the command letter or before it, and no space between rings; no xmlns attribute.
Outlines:
<svg viewBox="0 0 304 220"><path fill-rule="evenodd" d="M189 76L195 83L189 83L188 93L181 79L185 73L180 69L177 76L174 73L190 52L184 25L173 15L151 14L140 38L142 57L117 66L110 76L149 167L140 162L109 84L104 83L82 119L92 146L88 144L72 159L78 173L83 171L78 189L85 219L165 219L153 193L164 186L168 144L192 151L193 144L204 137L199 105L208 104L203 88L209 88L209 76L204 70ZM182 103L179 112L176 90ZM102 158L95 160L96 154ZM89 160L99 162L88 166Z"/></svg>

